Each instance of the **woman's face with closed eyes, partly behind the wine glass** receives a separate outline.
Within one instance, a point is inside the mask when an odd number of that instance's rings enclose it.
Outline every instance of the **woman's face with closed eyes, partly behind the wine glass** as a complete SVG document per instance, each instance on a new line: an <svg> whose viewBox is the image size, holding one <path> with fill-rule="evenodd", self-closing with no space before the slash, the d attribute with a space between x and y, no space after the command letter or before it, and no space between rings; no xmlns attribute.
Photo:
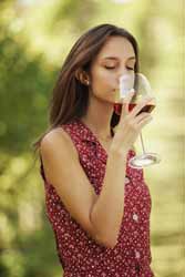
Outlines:
<svg viewBox="0 0 185 277"><path fill-rule="evenodd" d="M132 74L136 62L134 49L123 37L110 37L91 66L91 96L115 103L119 79Z"/></svg>

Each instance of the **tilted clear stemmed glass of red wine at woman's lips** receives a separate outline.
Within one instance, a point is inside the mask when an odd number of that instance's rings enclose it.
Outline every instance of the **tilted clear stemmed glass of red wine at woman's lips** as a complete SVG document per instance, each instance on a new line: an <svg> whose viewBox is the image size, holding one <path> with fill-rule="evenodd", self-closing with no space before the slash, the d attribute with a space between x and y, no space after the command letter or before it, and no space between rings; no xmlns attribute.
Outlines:
<svg viewBox="0 0 185 277"><path fill-rule="evenodd" d="M122 104L119 103L120 99L125 98L126 93L131 90L135 91L130 104L129 111L131 112L133 107L145 96L152 96L153 100L147 103L138 113L147 112L151 113L155 107L156 99L152 92L151 85L146 76L142 73L135 73L134 76L132 74L124 74L120 78L120 96L115 100L114 111L116 114L121 114ZM136 155L129 161L129 165L133 168L143 168L153 164L157 164L161 162L161 157L157 153L146 152L144 147L142 132L140 134L142 142L142 155Z"/></svg>

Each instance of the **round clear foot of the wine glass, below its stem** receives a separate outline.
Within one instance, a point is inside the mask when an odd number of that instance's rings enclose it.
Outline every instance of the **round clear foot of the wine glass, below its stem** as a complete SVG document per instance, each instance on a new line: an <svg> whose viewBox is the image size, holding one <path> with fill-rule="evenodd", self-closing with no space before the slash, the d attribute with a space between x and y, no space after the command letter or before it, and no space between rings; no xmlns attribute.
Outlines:
<svg viewBox="0 0 185 277"><path fill-rule="evenodd" d="M133 168L143 168L153 164L158 164L160 162L161 157L158 156L158 154L144 153L142 155L130 158L129 165Z"/></svg>

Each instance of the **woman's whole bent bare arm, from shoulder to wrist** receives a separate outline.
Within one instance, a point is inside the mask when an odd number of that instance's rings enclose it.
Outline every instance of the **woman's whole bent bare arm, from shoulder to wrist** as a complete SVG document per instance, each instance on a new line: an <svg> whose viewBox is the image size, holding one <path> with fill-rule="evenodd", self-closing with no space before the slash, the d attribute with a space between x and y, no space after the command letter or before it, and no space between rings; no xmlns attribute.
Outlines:
<svg viewBox="0 0 185 277"><path fill-rule="evenodd" d="M55 187L71 216L97 243L114 247L123 218L126 153L111 151L97 196L70 136L62 129L45 135L40 152L45 178Z"/></svg>

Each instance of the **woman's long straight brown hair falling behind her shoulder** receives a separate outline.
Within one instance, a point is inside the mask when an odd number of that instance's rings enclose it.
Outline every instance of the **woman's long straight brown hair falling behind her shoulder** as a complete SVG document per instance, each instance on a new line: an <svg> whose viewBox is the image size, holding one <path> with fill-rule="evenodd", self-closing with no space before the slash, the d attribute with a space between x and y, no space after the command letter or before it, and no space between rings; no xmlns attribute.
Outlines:
<svg viewBox="0 0 185 277"><path fill-rule="evenodd" d="M106 40L114 35L123 37L131 42L136 57L134 71L138 72L137 42L127 30L113 24L100 24L90 29L75 42L63 63L50 103L49 130L66 124L74 117L80 119L86 113L89 86L76 78L76 72L81 70L88 73ZM111 126L114 127L119 120L120 116L113 113ZM44 134L33 144L35 150Z"/></svg>

